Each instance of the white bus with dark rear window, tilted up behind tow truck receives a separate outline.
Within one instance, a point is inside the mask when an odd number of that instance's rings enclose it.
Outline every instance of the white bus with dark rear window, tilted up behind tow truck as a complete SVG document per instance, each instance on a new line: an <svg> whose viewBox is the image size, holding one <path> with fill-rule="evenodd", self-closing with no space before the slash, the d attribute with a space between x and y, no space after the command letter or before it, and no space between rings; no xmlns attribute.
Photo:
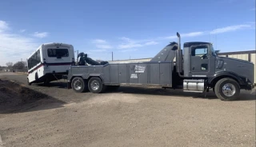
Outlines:
<svg viewBox="0 0 256 147"><path fill-rule="evenodd" d="M45 43L27 58L27 82L44 82L62 78L74 63L74 47L64 43Z"/></svg>

